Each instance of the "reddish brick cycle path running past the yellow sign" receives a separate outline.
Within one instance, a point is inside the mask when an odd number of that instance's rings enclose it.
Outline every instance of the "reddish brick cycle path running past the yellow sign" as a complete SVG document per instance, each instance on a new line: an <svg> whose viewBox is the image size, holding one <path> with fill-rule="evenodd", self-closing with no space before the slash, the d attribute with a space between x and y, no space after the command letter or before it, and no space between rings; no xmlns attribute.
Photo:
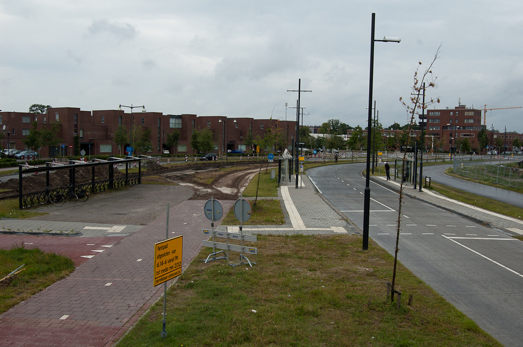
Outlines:
<svg viewBox="0 0 523 347"><path fill-rule="evenodd" d="M207 238L201 232L210 228L204 203L190 200L170 208L170 236L184 235L184 268ZM233 203L222 201L224 212ZM109 243L113 246L71 276L1 315L0 346L113 345L162 294L163 286L154 287L152 281L153 246L162 240L165 214L120 242Z"/></svg>

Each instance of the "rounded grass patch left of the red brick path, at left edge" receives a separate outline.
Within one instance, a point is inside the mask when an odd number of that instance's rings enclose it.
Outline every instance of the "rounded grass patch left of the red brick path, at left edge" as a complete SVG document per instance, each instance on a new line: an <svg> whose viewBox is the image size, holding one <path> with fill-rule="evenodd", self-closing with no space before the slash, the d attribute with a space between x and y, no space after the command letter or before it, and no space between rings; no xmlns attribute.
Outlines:
<svg viewBox="0 0 523 347"><path fill-rule="evenodd" d="M25 249L22 244L8 250L0 249L0 279L22 264L26 265L25 270L12 281L0 282L0 314L74 270L74 263L70 258L44 253L38 248Z"/></svg>

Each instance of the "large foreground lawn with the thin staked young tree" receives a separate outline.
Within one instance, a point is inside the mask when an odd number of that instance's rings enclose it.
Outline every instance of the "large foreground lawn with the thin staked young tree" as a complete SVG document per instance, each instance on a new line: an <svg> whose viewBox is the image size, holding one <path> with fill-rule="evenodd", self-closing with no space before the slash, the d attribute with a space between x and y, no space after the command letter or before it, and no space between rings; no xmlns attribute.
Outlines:
<svg viewBox="0 0 523 347"><path fill-rule="evenodd" d="M212 250L202 249L167 293L166 339L160 301L119 346L501 346L401 264L397 310L385 297L393 258L372 241L362 251L360 236L258 236L253 246L252 268L203 264Z"/></svg>

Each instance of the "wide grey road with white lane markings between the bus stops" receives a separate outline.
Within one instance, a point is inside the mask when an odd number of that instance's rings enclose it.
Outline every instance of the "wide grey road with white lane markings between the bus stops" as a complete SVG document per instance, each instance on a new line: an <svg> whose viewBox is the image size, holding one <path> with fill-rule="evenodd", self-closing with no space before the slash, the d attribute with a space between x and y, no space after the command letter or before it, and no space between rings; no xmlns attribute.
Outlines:
<svg viewBox="0 0 523 347"><path fill-rule="evenodd" d="M363 229L365 164L308 170L322 195ZM399 196L371 182L369 234L394 253ZM523 340L523 243L482 225L406 198L399 260L418 278L505 346ZM392 280L392 279L391 279ZM397 285L401 285L401 274ZM402 287L404 292L408 289Z"/></svg>

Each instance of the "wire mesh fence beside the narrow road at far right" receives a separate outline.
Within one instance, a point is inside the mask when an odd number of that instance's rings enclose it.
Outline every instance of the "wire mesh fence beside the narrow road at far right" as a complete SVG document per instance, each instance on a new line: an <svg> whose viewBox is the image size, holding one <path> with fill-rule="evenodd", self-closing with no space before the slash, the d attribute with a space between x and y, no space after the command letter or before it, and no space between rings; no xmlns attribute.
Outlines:
<svg viewBox="0 0 523 347"><path fill-rule="evenodd" d="M510 187L523 187L523 169L454 159L454 173Z"/></svg>

